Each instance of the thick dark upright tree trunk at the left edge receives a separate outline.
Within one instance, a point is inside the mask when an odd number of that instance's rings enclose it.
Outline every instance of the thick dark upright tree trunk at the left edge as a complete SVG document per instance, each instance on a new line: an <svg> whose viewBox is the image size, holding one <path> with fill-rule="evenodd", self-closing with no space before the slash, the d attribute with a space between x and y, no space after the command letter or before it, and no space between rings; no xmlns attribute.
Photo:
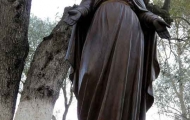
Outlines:
<svg viewBox="0 0 190 120"><path fill-rule="evenodd" d="M31 0L0 0L0 120L12 120L28 54Z"/></svg>

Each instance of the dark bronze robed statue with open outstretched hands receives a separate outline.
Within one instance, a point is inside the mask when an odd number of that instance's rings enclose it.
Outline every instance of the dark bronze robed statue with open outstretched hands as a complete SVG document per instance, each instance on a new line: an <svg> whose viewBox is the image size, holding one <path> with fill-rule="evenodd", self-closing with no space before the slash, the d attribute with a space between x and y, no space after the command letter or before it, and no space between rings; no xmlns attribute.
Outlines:
<svg viewBox="0 0 190 120"><path fill-rule="evenodd" d="M169 38L169 26L142 0L83 0L65 22L78 119L145 120L159 73L155 31Z"/></svg>

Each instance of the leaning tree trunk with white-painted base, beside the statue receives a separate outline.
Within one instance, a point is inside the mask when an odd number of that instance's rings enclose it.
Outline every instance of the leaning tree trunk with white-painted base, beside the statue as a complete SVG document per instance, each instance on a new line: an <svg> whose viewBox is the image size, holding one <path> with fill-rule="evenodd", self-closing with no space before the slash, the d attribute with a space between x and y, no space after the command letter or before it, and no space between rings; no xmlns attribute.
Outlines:
<svg viewBox="0 0 190 120"><path fill-rule="evenodd" d="M69 68L64 57L71 28L63 22L63 18L35 52L15 120L52 118L62 80Z"/></svg>

